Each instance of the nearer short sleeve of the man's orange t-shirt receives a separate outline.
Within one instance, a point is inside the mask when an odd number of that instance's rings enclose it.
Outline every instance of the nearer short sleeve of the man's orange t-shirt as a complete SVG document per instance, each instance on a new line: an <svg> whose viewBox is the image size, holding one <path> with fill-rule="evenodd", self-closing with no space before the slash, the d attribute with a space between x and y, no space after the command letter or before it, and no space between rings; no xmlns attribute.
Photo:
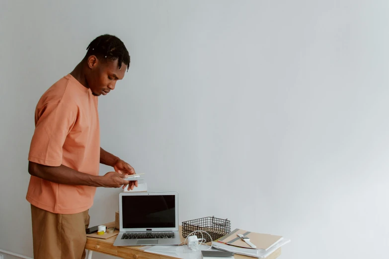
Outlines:
<svg viewBox="0 0 389 259"><path fill-rule="evenodd" d="M37 111L28 160L47 166L60 166L62 147L76 118L77 111L63 103L48 103Z"/></svg>

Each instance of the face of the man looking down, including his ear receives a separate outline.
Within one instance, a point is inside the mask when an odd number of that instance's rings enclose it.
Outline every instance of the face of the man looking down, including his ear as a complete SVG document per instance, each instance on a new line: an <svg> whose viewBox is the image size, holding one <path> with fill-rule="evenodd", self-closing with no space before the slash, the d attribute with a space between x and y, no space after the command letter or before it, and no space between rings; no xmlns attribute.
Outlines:
<svg viewBox="0 0 389 259"><path fill-rule="evenodd" d="M115 89L116 82L123 79L127 65L122 63L119 69L118 60L101 61L95 56L88 58L89 73L86 80L92 94L95 96L106 95Z"/></svg>

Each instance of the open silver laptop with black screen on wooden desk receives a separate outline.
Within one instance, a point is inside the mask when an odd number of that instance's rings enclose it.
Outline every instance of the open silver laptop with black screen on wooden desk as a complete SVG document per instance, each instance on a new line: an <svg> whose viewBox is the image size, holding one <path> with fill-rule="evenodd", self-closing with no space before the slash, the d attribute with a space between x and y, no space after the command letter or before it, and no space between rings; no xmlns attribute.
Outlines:
<svg viewBox="0 0 389 259"><path fill-rule="evenodd" d="M179 245L178 193L120 193L114 246Z"/></svg>

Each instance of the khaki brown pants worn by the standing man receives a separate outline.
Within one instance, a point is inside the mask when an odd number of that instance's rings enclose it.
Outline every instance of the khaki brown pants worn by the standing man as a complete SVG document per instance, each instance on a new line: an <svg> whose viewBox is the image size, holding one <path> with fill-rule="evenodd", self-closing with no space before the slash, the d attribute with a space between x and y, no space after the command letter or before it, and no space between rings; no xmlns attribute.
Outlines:
<svg viewBox="0 0 389 259"><path fill-rule="evenodd" d="M31 205L34 259L84 259L88 210L55 214Z"/></svg>

